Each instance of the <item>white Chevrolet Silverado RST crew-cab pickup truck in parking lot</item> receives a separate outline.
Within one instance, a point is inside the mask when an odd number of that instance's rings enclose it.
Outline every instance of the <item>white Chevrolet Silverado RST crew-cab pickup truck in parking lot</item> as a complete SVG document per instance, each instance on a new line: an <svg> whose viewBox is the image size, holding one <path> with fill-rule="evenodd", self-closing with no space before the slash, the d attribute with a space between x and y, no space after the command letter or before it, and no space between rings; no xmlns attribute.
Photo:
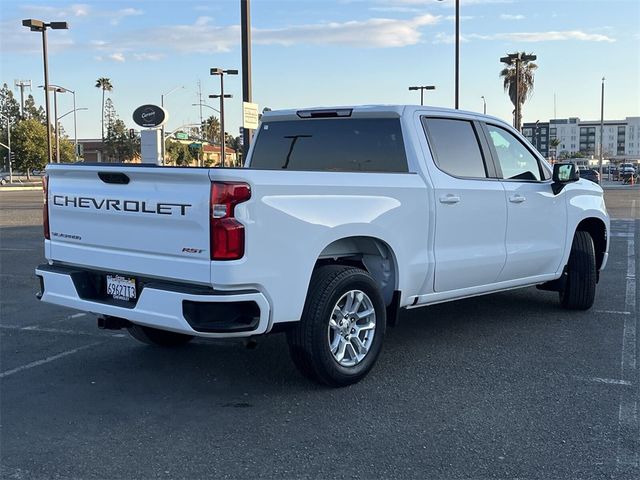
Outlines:
<svg viewBox="0 0 640 480"><path fill-rule="evenodd" d="M286 331L307 377L364 377L399 309L538 285L588 309L602 189L503 121L418 106L265 113L245 168L50 165L44 302L177 346Z"/></svg>

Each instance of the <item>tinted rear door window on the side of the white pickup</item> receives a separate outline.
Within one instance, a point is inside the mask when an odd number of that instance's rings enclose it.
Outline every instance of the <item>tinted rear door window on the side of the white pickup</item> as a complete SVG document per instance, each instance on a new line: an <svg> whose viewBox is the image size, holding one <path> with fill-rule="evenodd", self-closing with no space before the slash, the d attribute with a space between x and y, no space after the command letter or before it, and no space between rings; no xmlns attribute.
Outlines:
<svg viewBox="0 0 640 480"><path fill-rule="evenodd" d="M431 153L440 170L454 177L486 178L473 124L467 120L425 118Z"/></svg>

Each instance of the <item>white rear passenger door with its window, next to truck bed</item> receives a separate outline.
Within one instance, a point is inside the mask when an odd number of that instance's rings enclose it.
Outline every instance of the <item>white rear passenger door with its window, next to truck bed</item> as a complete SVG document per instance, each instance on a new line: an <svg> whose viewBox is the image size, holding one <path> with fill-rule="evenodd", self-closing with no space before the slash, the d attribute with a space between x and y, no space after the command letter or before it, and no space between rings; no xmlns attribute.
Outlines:
<svg viewBox="0 0 640 480"><path fill-rule="evenodd" d="M422 124L433 158L434 290L494 283L506 261L507 207L482 127L431 116Z"/></svg>

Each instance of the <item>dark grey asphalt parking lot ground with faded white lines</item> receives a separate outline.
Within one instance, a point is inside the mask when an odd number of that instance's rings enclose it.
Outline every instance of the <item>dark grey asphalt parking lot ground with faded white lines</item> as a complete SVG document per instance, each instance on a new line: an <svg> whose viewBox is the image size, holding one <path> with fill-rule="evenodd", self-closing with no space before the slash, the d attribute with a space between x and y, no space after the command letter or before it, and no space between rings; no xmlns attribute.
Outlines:
<svg viewBox="0 0 640 480"><path fill-rule="evenodd" d="M0 192L1 475L31 478L640 478L640 189L606 192L588 312L535 288L406 313L361 383L255 350L146 347L39 303L39 192Z"/></svg>

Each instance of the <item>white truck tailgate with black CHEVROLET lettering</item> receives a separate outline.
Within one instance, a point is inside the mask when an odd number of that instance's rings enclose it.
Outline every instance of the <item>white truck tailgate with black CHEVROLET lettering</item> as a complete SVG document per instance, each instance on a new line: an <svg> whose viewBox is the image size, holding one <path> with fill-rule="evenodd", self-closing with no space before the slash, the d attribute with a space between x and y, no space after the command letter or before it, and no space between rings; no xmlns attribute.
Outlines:
<svg viewBox="0 0 640 480"><path fill-rule="evenodd" d="M210 283L207 169L51 165L54 262Z"/></svg>

